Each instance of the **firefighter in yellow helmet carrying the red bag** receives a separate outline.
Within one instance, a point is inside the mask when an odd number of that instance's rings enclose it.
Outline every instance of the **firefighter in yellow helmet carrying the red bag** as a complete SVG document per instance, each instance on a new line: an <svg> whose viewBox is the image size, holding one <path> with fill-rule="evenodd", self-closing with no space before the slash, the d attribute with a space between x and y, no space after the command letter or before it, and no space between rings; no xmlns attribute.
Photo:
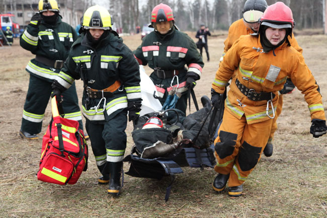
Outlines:
<svg viewBox="0 0 327 218"><path fill-rule="evenodd" d="M53 96L84 82L83 115L93 154L108 193L118 195L126 149L127 111L136 121L141 110L139 65L111 28L109 12L98 5L84 13L83 29L53 83Z"/></svg>

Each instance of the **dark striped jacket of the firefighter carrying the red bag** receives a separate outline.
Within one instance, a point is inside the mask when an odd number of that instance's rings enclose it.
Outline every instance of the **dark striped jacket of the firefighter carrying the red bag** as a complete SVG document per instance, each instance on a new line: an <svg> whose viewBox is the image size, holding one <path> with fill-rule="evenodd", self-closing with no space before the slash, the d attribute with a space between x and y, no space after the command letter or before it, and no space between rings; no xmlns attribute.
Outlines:
<svg viewBox="0 0 327 218"><path fill-rule="evenodd" d="M126 108L128 101L141 98L139 65L132 51L114 33L109 33L96 48L89 45L85 33L77 38L55 82L68 89L78 79L96 90L106 89L116 81L121 82L122 85L114 92L114 97L106 98L106 117L112 117L115 111ZM104 101L98 112L95 110L99 102L100 99L90 99L84 92L83 114L87 119L105 120L103 112L99 113Z"/></svg>

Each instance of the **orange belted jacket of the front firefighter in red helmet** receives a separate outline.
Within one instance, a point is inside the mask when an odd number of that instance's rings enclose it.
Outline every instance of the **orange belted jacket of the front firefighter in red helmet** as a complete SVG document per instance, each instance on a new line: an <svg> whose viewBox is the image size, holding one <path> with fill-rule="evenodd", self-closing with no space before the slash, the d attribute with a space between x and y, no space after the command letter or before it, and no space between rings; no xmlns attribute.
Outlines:
<svg viewBox="0 0 327 218"><path fill-rule="evenodd" d="M212 88L217 93L223 93L225 85L238 68L236 77L233 78L225 108L237 118L243 115L247 123L257 123L269 119L266 115L267 101L252 101L242 94L235 85L236 78L248 89L256 92L273 92L272 100L276 111L278 103L277 91L283 89L286 78L289 77L294 85L304 94L308 104L311 119L325 120L321 95L317 91L318 85L311 71L304 62L301 53L284 42L281 46L268 53L263 52L260 36L241 36L228 50L216 72ZM269 115L273 111L269 106Z"/></svg>

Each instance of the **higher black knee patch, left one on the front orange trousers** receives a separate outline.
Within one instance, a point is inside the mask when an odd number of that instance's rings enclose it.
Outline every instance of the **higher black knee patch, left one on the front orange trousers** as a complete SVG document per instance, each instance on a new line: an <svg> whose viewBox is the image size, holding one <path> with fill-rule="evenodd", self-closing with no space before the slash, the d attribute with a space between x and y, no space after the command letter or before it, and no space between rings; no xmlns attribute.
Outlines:
<svg viewBox="0 0 327 218"><path fill-rule="evenodd" d="M237 134L231 132L220 131L220 142L215 144L215 151L219 158L224 159L227 156L233 154L237 139Z"/></svg>

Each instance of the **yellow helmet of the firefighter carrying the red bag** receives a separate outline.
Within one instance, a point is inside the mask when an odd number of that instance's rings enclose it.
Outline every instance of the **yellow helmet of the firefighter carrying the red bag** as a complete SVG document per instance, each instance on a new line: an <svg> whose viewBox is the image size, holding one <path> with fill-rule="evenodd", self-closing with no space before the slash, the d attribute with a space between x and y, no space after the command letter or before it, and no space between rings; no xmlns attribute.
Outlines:
<svg viewBox="0 0 327 218"><path fill-rule="evenodd" d="M86 10L83 16L84 29L109 30L111 17L107 9L99 5L92 6Z"/></svg>

